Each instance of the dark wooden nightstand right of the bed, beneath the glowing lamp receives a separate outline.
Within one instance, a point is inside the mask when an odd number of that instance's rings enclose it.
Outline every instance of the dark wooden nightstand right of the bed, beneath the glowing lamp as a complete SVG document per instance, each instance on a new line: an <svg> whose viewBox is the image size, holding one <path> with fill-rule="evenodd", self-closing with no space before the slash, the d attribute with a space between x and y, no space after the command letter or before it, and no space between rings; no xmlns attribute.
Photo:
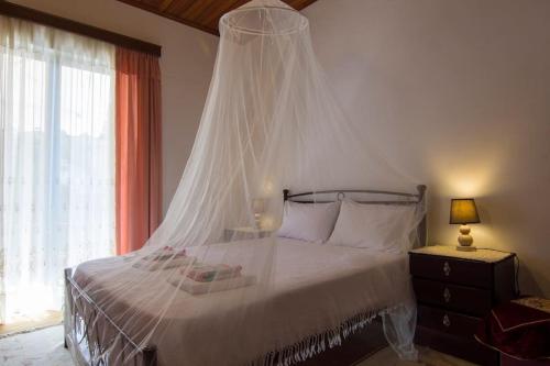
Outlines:
<svg viewBox="0 0 550 366"><path fill-rule="evenodd" d="M409 252L418 301L417 344L481 365L498 365L498 353L474 333L491 309L515 297L515 254L459 252L426 246Z"/></svg>

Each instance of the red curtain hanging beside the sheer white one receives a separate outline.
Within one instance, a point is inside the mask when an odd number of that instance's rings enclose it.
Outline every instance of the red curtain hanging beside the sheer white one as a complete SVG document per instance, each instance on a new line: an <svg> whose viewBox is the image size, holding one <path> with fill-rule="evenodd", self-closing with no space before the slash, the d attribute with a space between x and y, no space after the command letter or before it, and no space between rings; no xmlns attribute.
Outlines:
<svg viewBox="0 0 550 366"><path fill-rule="evenodd" d="M117 48L117 253L139 249L161 220L161 68Z"/></svg>

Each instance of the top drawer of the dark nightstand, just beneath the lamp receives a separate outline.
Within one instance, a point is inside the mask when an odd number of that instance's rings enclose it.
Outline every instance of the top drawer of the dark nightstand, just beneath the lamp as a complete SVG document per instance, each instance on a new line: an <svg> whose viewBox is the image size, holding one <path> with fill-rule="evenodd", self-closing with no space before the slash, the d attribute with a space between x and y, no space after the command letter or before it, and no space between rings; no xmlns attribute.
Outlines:
<svg viewBox="0 0 550 366"><path fill-rule="evenodd" d="M473 287L492 288L493 286L493 266L484 262L411 253L410 274Z"/></svg>

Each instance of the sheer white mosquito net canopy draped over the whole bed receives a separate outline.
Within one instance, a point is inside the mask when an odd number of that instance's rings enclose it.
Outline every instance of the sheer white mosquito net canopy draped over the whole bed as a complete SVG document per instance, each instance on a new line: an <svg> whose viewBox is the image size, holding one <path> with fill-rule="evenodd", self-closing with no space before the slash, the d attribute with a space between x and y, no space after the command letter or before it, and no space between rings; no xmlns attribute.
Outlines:
<svg viewBox="0 0 550 366"><path fill-rule="evenodd" d="M406 253L425 204L366 126L338 107L299 12L255 0L222 16L163 223L141 251L67 271L76 362L292 365L377 315L399 356L415 358Z"/></svg>

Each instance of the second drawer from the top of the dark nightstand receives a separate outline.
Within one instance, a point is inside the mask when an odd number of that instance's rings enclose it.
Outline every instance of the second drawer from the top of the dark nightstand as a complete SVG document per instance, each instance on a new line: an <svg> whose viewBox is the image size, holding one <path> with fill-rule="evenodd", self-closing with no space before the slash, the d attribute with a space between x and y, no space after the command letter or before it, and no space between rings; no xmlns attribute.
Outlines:
<svg viewBox="0 0 550 366"><path fill-rule="evenodd" d="M417 300L422 303L484 317L492 308L490 290L413 278Z"/></svg>

